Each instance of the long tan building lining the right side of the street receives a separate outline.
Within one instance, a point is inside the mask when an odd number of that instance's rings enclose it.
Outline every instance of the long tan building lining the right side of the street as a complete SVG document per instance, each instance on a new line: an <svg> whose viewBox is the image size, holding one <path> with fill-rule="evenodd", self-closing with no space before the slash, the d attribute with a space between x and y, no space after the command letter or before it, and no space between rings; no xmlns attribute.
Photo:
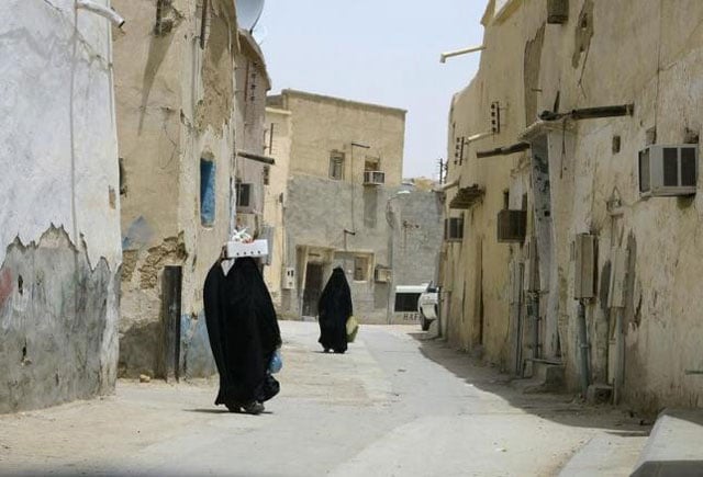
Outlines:
<svg viewBox="0 0 703 477"><path fill-rule="evenodd" d="M488 2L450 113L442 282L451 342L651 411L703 407L703 5L649 7Z"/></svg>

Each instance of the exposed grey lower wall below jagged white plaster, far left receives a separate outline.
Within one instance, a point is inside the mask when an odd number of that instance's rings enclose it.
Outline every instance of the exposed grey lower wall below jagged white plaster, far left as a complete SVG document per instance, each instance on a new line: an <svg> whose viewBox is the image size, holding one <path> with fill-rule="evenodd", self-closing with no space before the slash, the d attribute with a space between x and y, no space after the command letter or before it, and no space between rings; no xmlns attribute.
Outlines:
<svg viewBox="0 0 703 477"><path fill-rule="evenodd" d="M0 412L111 393L120 275L63 229L15 241L0 268Z"/></svg>

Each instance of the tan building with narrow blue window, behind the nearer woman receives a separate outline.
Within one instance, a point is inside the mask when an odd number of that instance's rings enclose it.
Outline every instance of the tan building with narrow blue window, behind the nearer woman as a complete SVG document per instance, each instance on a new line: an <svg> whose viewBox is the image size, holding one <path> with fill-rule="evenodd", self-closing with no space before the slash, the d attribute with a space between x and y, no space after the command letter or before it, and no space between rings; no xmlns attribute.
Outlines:
<svg viewBox="0 0 703 477"><path fill-rule="evenodd" d="M261 167L238 154L263 152L266 67L232 1L114 4L130 25L115 38L120 373L210 375L202 285L235 226L239 183L260 181ZM253 213L261 190L250 191ZM255 219L238 218L257 231Z"/></svg>

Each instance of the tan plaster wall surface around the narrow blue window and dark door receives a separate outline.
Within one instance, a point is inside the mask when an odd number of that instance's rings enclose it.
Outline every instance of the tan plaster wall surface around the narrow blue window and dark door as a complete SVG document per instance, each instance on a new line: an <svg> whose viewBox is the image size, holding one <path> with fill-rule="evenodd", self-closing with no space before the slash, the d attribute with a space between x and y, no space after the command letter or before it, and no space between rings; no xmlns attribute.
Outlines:
<svg viewBox="0 0 703 477"><path fill-rule="evenodd" d="M230 235L234 175L234 10L209 2L201 48L201 2L115 1L129 34L115 39L123 164L121 373L161 373L161 274L182 266L181 375L211 362L201 339L202 284ZM148 8L147 8L148 5ZM146 9L146 10L145 10ZM149 11L150 14L145 14ZM159 26L160 25L160 26ZM212 224L201 222L200 162L215 167ZM207 340L205 340L207 341ZM194 344L191 345L191 342ZM198 374L211 374L193 364ZM205 370L205 371L203 371Z"/></svg>

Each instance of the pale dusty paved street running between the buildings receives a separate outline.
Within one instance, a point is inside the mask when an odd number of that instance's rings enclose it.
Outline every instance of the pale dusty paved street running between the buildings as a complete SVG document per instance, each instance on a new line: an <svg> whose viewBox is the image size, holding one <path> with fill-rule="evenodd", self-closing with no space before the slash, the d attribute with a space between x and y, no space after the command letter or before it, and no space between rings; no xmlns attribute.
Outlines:
<svg viewBox="0 0 703 477"><path fill-rule="evenodd" d="M0 417L0 474L549 476L596 443L617 448L599 474L628 475L648 430L522 395L417 327L362 327L345 355L320 352L315 323L281 331L265 414L214 407L213 383L120 382L116 396Z"/></svg>

